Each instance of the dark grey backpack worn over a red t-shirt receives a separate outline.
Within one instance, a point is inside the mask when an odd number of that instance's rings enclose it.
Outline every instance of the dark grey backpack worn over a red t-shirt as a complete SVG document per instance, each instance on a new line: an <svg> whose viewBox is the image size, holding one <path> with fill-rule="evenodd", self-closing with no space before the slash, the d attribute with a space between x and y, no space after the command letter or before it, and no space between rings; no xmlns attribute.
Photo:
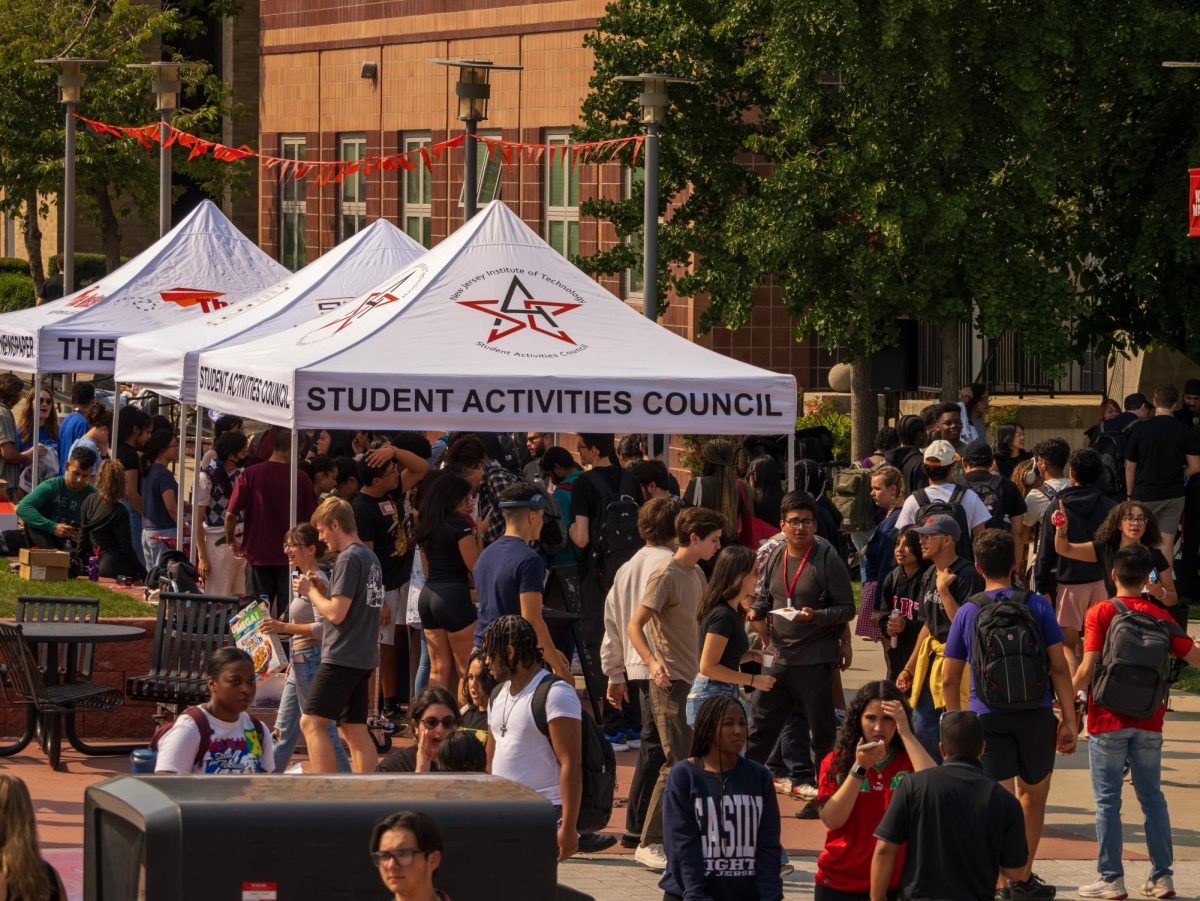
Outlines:
<svg viewBox="0 0 1200 901"><path fill-rule="evenodd" d="M1104 636L1092 679L1092 702L1122 716L1146 720L1166 702L1174 655L1171 637L1187 635L1174 621L1109 601L1117 614Z"/></svg>

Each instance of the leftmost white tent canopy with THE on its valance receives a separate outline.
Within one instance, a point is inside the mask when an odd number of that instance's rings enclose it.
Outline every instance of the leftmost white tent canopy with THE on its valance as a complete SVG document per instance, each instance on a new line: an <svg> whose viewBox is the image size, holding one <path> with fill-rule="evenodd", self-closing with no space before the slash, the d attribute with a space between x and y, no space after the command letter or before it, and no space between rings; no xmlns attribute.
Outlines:
<svg viewBox="0 0 1200 901"><path fill-rule="evenodd" d="M0 316L0 368L110 374L116 341L194 324L288 274L210 200L131 259L62 300Z"/></svg>

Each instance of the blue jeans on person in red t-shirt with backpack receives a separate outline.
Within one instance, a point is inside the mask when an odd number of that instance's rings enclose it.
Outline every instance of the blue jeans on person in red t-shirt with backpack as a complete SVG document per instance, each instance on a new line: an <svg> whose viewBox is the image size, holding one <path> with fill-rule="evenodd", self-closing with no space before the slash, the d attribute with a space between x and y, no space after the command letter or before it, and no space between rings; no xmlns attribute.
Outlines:
<svg viewBox="0 0 1200 901"><path fill-rule="evenodd" d="M1122 770L1129 762L1133 791L1146 818L1146 851L1150 878L1171 875L1175 851L1171 846L1171 817L1163 797L1163 733L1146 729L1102 732L1088 739L1087 762L1096 795L1096 840L1099 853L1096 869L1103 879L1124 876L1121 864Z"/></svg>

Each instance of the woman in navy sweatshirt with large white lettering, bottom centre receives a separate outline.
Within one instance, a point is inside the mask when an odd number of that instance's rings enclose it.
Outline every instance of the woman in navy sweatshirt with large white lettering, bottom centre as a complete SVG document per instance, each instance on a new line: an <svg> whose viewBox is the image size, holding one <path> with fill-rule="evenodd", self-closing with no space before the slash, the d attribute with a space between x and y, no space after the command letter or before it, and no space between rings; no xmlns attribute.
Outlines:
<svg viewBox="0 0 1200 901"><path fill-rule="evenodd" d="M746 715L737 698L704 701L691 756L662 795L664 901L779 901L784 849L770 771L742 757Z"/></svg>

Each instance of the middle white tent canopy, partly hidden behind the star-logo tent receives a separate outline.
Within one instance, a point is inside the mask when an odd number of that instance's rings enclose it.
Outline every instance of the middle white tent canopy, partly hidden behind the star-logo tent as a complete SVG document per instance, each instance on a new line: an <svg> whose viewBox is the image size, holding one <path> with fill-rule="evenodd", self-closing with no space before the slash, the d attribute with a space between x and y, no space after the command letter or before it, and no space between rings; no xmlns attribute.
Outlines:
<svg viewBox="0 0 1200 901"><path fill-rule="evenodd" d="M353 300L425 253L425 247L386 220L356 235L304 269L241 304L166 329L116 342L116 379L148 388L184 403L196 402L200 352L272 335L319 318Z"/></svg>

